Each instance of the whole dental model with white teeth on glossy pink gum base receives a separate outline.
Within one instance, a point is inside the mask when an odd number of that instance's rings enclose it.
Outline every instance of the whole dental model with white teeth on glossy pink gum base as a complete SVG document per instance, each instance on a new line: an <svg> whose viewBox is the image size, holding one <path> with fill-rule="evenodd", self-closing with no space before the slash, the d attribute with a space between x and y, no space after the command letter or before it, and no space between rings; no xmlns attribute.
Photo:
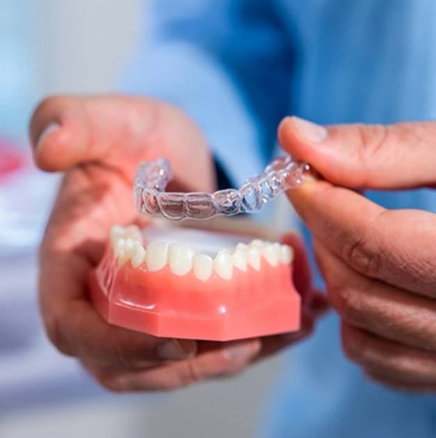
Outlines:
<svg viewBox="0 0 436 438"><path fill-rule="evenodd" d="M99 314L171 338L229 341L298 330L292 248L261 240L280 236L252 222L225 221L115 225L90 278Z"/></svg>

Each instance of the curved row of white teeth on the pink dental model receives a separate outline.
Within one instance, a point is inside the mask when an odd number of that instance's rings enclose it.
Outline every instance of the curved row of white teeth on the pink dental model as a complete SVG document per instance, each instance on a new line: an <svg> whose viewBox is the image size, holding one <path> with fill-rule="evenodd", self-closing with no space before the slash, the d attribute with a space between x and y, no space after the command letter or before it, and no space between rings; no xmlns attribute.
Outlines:
<svg viewBox="0 0 436 438"><path fill-rule="evenodd" d="M213 273L223 279L232 279L234 268L246 272L250 266L259 271L262 259L273 267L293 261L293 248L289 245L259 239L248 244L238 243L232 254L229 250L220 250L214 259L207 254L195 254L186 243L151 241L145 250L142 239L142 233L136 225L112 227L110 241L119 267L130 260L132 268L145 263L147 270L153 272L168 264L175 275L183 276L193 270L197 279L206 281Z"/></svg>

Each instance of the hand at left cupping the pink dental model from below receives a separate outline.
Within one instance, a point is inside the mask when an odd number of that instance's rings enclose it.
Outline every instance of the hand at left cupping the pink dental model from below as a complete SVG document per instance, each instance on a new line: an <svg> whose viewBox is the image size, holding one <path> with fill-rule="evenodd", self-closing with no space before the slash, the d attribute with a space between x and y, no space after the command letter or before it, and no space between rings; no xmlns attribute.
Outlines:
<svg viewBox="0 0 436 438"><path fill-rule="evenodd" d="M173 106L120 96L47 99L33 115L31 138L38 167L66 171L40 250L42 317L54 345L77 357L104 387L171 389L229 375L312 330L323 306L317 295L301 332L264 340L161 339L108 325L88 301L88 274L102 257L111 225L135 220L136 165L166 156L175 173L172 188L213 190L206 141ZM296 245L296 282L308 293L308 265L298 240Z"/></svg>

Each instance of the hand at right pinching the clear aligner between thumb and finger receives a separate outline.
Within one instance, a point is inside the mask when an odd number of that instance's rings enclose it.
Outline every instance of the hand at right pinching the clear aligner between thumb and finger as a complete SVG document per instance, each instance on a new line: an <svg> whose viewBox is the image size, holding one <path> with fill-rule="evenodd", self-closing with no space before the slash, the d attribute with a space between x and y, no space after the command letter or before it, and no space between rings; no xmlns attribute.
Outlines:
<svg viewBox="0 0 436 438"><path fill-rule="evenodd" d="M287 117L279 138L327 180L289 198L314 236L346 355L382 384L435 392L436 215L389 211L349 188L435 187L436 123L324 128Z"/></svg>

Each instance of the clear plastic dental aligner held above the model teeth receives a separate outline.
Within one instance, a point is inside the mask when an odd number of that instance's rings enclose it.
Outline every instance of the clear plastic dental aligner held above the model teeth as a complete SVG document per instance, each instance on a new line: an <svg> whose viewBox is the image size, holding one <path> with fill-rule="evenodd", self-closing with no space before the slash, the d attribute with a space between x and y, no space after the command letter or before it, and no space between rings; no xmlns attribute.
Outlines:
<svg viewBox="0 0 436 438"><path fill-rule="evenodd" d="M138 166L134 182L136 210L170 220L255 213L284 190L300 185L309 171L307 163L285 155L271 161L263 172L245 181L239 190L229 188L215 193L177 193L165 192L172 179L168 160L145 161Z"/></svg>

